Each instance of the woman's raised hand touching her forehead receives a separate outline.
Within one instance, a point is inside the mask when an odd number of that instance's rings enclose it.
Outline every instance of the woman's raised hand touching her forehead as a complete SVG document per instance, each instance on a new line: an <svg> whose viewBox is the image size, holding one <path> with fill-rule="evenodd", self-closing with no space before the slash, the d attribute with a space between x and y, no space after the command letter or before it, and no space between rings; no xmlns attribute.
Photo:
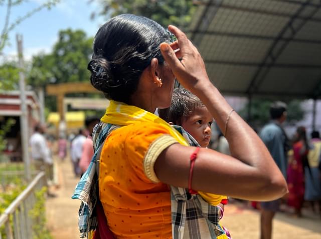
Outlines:
<svg viewBox="0 0 321 239"><path fill-rule="evenodd" d="M177 80L186 89L198 95L212 84L206 73L204 61L196 47L180 29L169 26L169 31L178 40L171 45L162 43L160 46L162 55Z"/></svg>

